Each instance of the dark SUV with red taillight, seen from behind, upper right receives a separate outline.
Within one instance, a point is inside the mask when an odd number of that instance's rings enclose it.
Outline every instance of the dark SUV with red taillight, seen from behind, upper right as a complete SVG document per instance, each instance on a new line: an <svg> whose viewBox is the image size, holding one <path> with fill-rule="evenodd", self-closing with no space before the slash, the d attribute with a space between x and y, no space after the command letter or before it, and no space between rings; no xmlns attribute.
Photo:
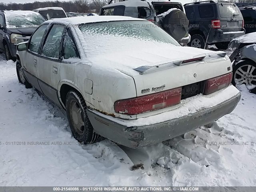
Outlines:
<svg viewBox="0 0 256 192"><path fill-rule="evenodd" d="M234 3L202 1L184 4L184 8L191 35L189 46L215 44L227 49L232 39L245 34L243 16Z"/></svg>

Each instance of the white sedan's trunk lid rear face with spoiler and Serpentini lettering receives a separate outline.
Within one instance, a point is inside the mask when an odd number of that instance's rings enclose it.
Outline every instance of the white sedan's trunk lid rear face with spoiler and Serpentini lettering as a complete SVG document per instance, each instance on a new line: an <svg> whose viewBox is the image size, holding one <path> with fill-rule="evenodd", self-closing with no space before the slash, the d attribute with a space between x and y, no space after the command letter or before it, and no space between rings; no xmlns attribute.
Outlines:
<svg viewBox="0 0 256 192"><path fill-rule="evenodd" d="M202 92L204 80L231 72L224 52L188 55L163 64L134 68L137 74L124 73L134 78L137 96L182 87L182 93L186 93L183 98L187 98Z"/></svg>

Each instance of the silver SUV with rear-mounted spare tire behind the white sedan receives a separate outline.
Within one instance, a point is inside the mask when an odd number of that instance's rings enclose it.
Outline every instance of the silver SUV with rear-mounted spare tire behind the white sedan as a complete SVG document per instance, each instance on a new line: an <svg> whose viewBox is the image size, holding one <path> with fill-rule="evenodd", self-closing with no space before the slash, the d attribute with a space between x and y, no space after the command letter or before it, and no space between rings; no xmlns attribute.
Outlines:
<svg viewBox="0 0 256 192"><path fill-rule="evenodd" d="M127 0L103 6L100 15L130 16L154 22L182 45L190 42L188 19L180 2Z"/></svg>

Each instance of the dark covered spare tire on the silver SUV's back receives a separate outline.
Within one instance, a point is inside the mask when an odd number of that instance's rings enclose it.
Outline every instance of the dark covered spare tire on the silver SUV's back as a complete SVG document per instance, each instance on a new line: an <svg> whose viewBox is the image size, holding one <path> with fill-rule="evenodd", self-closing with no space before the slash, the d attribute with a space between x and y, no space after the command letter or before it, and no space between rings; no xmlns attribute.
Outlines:
<svg viewBox="0 0 256 192"><path fill-rule="evenodd" d="M172 10L164 17L162 28L176 40L180 40L188 32L188 18L181 10Z"/></svg>

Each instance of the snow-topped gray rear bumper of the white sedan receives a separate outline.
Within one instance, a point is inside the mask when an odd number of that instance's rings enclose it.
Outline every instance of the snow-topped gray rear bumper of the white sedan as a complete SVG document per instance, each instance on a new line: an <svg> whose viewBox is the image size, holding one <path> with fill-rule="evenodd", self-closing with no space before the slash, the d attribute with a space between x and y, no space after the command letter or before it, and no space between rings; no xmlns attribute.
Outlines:
<svg viewBox="0 0 256 192"><path fill-rule="evenodd" d="M192 101L188 98L189 105L200 105L199 96L196 97L194 96ZM221 99L223 97L224 100ZM232 112L240 98L240 92L234 86L229 86L217 94L214 93L213 96L204 98L204 101L209 102L203 109L196 109L195 106L193 112L190 112L189 107L186 109L185 104L185 108L181 106L172 111L137 120L121 120L90 109L87 109L87 114L94 130L101 136L130 148L140 148L163 142L213 122ZM167 116L168 120L151 123L163 116Z"/></svg>

